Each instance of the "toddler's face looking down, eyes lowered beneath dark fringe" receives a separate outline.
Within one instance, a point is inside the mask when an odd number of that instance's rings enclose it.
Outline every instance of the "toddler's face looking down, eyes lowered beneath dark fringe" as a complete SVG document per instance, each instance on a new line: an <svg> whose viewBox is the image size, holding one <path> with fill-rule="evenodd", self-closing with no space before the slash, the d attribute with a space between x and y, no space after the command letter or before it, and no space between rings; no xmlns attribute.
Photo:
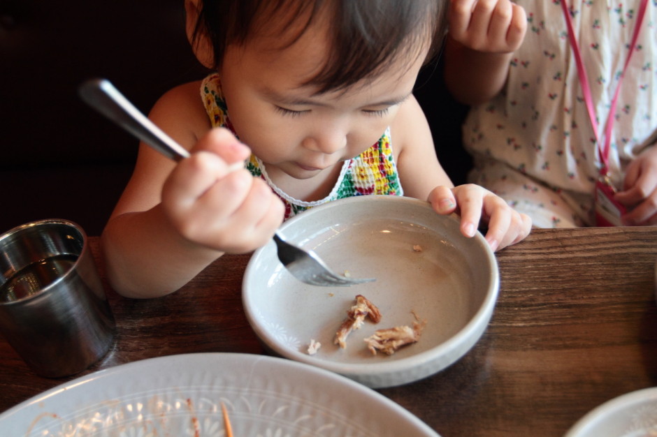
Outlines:
<svg viewBox="0 0 657 437"><path fill-rule="evenodd" d="M302 84L324 64L323 32L312 26L282 50L280 40L261 37L226 51L220 75L229 117L270 176L309 179L368 149L410 97L426 54L411 51L371 80L315 95Z"/></svg>

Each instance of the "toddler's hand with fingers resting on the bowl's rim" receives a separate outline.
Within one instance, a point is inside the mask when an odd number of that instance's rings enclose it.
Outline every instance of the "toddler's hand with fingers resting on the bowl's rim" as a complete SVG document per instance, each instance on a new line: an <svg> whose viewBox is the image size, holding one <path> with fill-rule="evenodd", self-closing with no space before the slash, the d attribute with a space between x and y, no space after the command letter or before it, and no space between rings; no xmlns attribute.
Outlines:
<svg viewBox="0 0 657 437"><path fill-rule="evenodd" d="M429 193L428 201L438 214L461 216L461 232L472 237L479 221L488 223L486 242L493 251L516 244L529 235L531 218L510 207L500 196L475 184L454 188L438 186Z"/></svg>

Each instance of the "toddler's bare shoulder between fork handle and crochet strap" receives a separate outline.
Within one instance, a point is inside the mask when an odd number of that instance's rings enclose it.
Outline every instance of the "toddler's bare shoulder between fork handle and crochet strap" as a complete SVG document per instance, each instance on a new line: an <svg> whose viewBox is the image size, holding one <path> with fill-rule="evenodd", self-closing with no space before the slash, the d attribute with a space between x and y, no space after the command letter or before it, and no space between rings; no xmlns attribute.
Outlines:
<svg viewBox="0 0 657 437"><path fill-rule="evenodd" d="M167 91L155 103L148 117L181 145L192 147L211 127L201 98L201 81Z"/></svg>

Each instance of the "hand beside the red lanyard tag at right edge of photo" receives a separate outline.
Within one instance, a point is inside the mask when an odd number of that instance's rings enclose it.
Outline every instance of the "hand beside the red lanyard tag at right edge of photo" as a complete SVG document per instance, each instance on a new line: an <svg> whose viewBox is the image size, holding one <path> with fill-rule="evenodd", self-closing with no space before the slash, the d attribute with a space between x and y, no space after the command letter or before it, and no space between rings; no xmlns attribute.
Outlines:
<svg viewBox="0 0 657 437"><path fill-rule="evenodd" d="M652 145L628 165L623 191L616 193L616 200L630 209L623 216L624 224L657 224L657 145Z"/></svg>

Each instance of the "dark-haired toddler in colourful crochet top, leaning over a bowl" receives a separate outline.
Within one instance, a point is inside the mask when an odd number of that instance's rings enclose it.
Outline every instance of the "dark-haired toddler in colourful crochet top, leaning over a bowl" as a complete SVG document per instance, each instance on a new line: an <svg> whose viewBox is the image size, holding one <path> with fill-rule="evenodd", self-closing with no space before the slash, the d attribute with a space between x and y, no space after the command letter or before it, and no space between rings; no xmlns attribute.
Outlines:
<svg viewBox="0 0 657 437"><path fill-rule="evenodd" d="M173 292L223 253L266 244L284 218L353 195L428 200L458 212L468 237L483 220L492 249L526 237L528 217L497 195L452 186L412 96L445 4L186 0L190 43L214 73L150 112L192 156L140 147L102 236L113 288Z"/></svg>

